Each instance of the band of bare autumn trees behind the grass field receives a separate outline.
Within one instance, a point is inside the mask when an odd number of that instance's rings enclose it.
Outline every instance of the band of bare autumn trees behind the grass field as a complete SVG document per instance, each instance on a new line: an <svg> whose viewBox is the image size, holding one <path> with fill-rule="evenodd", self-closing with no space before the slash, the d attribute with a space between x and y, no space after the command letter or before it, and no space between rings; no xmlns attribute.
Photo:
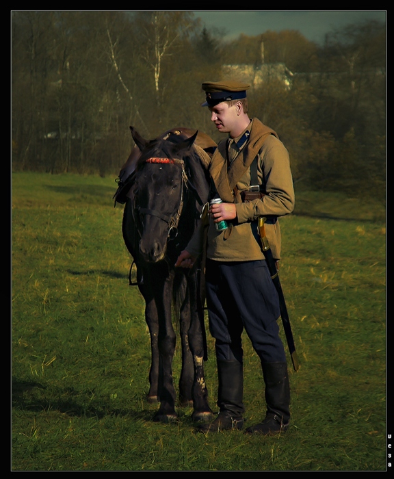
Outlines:
<svg viewBox="0 0 394 479"><path fill-rule="evenodd" d="M116 175L129 125L146 138L185 126L221 140L202 81L264 62L291 70L291 88L265 78L250 116L278 131L298 187L384 201L385 25L347 25L321 47L293 30L223 36L192 12L13 12L12 167Z"/></svg>

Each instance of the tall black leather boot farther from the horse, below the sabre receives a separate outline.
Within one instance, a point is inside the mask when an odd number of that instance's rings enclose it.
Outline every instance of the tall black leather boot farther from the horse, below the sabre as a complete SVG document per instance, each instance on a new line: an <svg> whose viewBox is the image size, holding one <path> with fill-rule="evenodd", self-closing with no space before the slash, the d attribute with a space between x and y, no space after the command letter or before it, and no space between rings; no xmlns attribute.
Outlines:
<svg viewBox="0 0 394 479"><path fill-rule="evenodd" d="M273 435L285 432L290 422L290 385L287 363L262 363L267 415L250 426L248 434Z"/></svg>

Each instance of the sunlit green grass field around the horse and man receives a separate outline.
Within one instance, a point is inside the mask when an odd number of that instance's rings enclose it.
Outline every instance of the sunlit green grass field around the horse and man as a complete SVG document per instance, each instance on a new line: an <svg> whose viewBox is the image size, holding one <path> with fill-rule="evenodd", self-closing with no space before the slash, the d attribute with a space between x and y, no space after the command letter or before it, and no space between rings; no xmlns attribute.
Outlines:
<svg viewBox="0 0 394 479"><path fill-rule="evenodd" d="M12 471L386 470L384 208L298 192L280 277L301 367L282 437L150 422L143 302L112 178L12 177ZM213 341L207 387L215 410ZM247 425L264 414L247 338ZM174 380L180 358L174 358Z"/></svg>

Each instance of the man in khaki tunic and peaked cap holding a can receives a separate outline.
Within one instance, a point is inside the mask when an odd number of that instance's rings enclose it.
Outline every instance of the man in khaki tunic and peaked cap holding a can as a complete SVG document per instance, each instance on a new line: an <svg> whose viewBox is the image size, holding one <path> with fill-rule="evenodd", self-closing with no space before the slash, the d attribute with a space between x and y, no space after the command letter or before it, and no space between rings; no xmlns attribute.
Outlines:
<svg viewBox="0 0 394 479"><path fill-rule="evenodd" d="M220 413L202 432L244 426L243 349L245 328L259 355L267 411L248 433L269 435L289 427L290 389L285 349L279 337L278 294L267 268L257 220L267 218L265 231L276 260L280 259L278 217L294 207L289 154L276 132L248 116L246 90L235 81L202 83L211 120L228 138L218 145L207 169L213 196L207 232L206 290L209 329L215 338ZM215 229L225 220L229 227ZM192 267L203 248L203 226L181 253L176 266Z"/></svg>

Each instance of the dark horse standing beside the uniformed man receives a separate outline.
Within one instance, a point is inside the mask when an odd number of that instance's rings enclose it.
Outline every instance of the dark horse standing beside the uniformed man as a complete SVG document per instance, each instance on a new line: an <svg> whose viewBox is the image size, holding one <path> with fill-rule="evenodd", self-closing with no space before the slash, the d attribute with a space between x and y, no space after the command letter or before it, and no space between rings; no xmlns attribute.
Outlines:
<svg viewBox="0 0 394 479"><path fill-rule="evenodd" d="M212 415L204 380L207 346L200 265L192 270L174 267L196 231L202 205L209 195L205 168L193 147L198 133L190 136L189 132L173 129L147 141L131 127L137 148L120 173L121 179L127 172L123 198L118 198L125 203L122 233L137 268L137 285L145 300L150 332L148 400L159 401L153 420L161 422L176 418L172 380L176 333L172 313L179 317L182 346L179 403L193 403L195 421L209 420ZM200 138L201 135L204 133Z"/></svg>

